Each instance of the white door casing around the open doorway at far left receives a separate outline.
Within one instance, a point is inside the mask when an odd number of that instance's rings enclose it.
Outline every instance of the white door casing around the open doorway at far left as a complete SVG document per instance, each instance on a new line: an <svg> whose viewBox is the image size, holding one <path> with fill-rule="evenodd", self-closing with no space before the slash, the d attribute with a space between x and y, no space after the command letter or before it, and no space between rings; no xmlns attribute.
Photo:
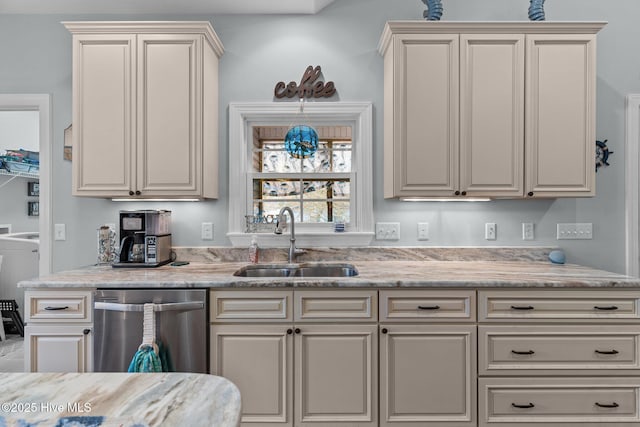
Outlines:
<svg viewBox="0 0 640 427"><path fill-rule="evenodd" d="M37 110L40 125L40 264L39 274L51 273L51 96L48 94L0 94L0 110Z"/></svg>

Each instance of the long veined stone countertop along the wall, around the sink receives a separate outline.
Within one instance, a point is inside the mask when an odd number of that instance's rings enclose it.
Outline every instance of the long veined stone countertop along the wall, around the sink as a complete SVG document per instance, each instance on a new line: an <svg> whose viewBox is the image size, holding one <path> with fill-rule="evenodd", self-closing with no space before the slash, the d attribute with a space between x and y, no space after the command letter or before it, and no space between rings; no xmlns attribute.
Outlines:
<svg viewBox="0 0 640 427"><path fill-rule="evenodd" d="M573 264L541 261L354 261L359 275L342 278L250 278L233 273L246 262L191 262L157 268L90 266L26 280L24 288L411 288L639 287L640 279Z"/></svg>

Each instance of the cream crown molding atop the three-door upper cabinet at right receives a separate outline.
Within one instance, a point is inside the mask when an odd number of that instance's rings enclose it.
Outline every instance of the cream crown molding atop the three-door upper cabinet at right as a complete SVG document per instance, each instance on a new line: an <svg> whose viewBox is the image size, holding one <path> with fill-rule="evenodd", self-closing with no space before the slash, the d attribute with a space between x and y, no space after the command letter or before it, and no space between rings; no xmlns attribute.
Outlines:
<svg viewBox="0 0 640 427"><path fill-rule="evenodd" d="M387 21L378 43L384 55L394 34L596 34L606 21Z"/></svg>

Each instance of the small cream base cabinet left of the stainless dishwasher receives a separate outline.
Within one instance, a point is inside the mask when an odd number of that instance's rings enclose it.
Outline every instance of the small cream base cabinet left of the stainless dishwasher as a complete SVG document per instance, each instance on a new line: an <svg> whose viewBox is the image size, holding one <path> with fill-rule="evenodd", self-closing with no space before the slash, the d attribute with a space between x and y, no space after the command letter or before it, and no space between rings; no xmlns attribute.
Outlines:
<svg viewBox="0 0 640 427"><path fill-rule="evenodd" d="M25 292L25 372L93 370L92 292Z"/></svg>

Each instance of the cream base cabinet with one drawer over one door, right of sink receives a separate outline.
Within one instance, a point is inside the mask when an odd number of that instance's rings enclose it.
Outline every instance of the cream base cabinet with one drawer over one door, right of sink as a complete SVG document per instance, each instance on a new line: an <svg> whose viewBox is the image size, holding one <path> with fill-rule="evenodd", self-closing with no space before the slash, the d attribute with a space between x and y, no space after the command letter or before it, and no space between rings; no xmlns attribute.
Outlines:
<svg viewBox="0 0 640 427"><path fill-rule="evenodd" d="M475 292L381 291L380 306L380 426L475 426Z"/></svg>

